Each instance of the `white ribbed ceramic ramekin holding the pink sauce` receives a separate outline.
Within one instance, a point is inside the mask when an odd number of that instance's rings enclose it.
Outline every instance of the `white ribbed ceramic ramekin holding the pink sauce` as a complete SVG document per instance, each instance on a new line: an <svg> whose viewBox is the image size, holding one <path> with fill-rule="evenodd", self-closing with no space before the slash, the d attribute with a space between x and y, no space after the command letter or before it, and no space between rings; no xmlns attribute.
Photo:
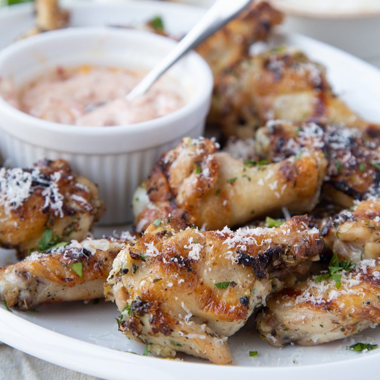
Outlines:
<svg viewBox="0 0 380 380"><path fill-rule="evenodd" d="M149 68L175 42L154 34L116 28L70 28L17 42L0 52L0 77L16 87L56 65ZM191 52L168 73L184 88L186 105L167 116L129 126L78 127L30 116L0 97L1 156L28 167L47 157L67 160L99 186L106 204L102 224L132 220L134 190L159 155L186 136L204 132L213 86L206 62Z"/></svg>

